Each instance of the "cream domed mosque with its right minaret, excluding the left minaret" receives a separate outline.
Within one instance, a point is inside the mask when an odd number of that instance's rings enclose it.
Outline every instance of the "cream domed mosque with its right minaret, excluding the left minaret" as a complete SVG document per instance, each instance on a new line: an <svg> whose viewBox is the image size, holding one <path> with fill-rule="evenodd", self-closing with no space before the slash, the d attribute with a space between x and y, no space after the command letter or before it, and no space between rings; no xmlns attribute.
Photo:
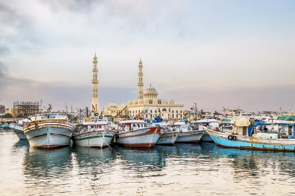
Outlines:
<svg viewBox="0 0 295 196"><path fill-rule="evenodd" d="M143 63L139 61L139 73L138 73L138 100L129 100L127 105L125 103L117 106L116 103L110 103L107 108L103 109L104 115L129 115L135 116L142 111L148 111L145 113L146 119L152 119L153 115L161 115L164 120L180 120L183 119L183 104L175 104L173 99L159 99L158 93L155 88L149 86L145 92L143 92ZM129 111L129 112L128 112Z"/></svg>

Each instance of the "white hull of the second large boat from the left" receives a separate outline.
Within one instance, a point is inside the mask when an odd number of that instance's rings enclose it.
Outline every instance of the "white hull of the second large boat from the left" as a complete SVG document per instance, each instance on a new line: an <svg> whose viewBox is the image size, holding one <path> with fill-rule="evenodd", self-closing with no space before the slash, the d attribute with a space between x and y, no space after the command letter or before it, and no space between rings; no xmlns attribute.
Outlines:
<svg viewBox="0 0 295 196"><path fill-rule="evenodd" d="M89 131L72 136L73 143L79 147L107 147L116 131Z"/></svg>

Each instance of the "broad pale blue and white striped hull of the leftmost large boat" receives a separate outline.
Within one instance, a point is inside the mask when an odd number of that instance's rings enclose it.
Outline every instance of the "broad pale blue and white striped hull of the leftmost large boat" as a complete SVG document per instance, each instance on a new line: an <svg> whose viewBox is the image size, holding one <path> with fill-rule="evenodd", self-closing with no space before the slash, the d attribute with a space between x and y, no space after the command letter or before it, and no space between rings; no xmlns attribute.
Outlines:
<svg viewBox="0 0 295 196"><path fill-rule="evenodd" d="M30 147L57 148L70 145L73 126L69 123L45 122L24 128Z"/></svg>

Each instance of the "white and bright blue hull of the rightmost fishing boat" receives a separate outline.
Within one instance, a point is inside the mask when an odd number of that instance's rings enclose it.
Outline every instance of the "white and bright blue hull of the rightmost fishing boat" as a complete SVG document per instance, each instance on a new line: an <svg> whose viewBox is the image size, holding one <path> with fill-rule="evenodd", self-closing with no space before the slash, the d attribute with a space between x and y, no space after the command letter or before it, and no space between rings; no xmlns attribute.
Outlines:
<svg viewBox="0 0 295 196"><path fill-rule="evenodd" d="M236 136L236 140L229 140L229 134L217 132L206 128L216 145L228 148L295 151L295 139L270 139L249 136Z"/></svg>

